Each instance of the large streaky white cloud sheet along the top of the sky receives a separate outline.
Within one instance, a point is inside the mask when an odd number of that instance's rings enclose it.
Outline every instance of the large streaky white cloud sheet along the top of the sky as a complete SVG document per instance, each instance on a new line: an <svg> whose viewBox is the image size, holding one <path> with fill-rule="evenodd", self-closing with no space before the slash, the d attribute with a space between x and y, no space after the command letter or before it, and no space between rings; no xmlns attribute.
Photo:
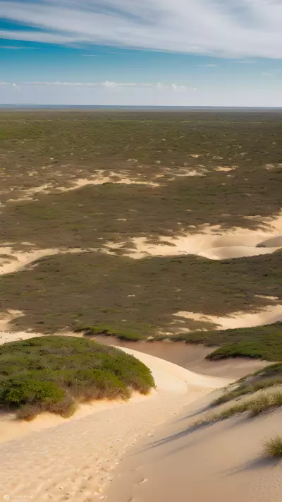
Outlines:
<svg viewBox="0 0 282 502"><path fill-rule="evenodd" d="M7 40L282 59L278 0L0 0Z"/></svg>

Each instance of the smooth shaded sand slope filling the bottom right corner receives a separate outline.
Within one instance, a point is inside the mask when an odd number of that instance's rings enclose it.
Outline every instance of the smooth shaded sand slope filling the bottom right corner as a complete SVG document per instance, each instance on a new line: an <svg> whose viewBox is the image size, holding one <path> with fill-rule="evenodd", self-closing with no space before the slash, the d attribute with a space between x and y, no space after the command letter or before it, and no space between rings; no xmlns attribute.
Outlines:
<svg viewBox="0 0 282 502"><path fill-rule="evenodd" d="M191 431L210 399L188 405L128 451L106 502L281 502L281 461L263 458L262 446L281 434L282 410Z"/></svg>

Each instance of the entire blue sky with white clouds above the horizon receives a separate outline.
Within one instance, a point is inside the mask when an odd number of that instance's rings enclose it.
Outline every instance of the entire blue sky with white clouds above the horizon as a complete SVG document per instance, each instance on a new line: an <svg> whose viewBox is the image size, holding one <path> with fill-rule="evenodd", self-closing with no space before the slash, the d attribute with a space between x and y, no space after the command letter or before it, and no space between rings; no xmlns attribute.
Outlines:
<svg viewBox="0 0 282 502"><path fill-rule="evenodd" d="M0 0L0 104L282 107L282 0Z"/></svg>

